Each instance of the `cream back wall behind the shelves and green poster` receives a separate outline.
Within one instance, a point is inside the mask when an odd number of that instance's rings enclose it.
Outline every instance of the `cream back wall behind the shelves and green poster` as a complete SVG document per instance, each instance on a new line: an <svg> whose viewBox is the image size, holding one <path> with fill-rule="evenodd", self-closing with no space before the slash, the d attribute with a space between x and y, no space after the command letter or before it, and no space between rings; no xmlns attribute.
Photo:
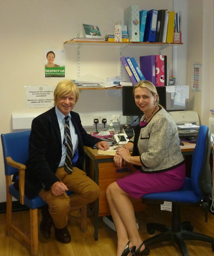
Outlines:
<svg viewBox="0 0 214 256"><path fill-rule="evenodd" d="M59 79L44 79L44 50L65 49L66 78L77 74L75 46L63 42L75 37L82 23L97 24L102 36L113 33L116 21L124 21L124 9L130 4L140 9L172 10L172 0L2 0L0 8L0 133L12 131L12 113L42 113L45 108L27 108L25 85L56 85ZM158 54L158 47L126 47L124 55ZM172 57L170 47L162 54ZM119 74L117 47L88 47L81 49L81 75L98 74L106 79ZM168 60L168 58L167 58ZM126 77L126 74L124 75ZM128 78L127 78L128 79ZM109 104L111 100L111 104ZM109 98L107 91L83 91L75 109L77 112L121 111L122 99ZM0 147L0 202L6 201L3 156Z"/></svg>

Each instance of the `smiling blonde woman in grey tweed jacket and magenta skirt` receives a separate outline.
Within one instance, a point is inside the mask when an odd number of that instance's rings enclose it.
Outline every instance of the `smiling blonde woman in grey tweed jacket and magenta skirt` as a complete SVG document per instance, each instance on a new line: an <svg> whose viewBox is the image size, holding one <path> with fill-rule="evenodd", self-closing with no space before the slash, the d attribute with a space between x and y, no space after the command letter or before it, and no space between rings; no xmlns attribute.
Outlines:
<svg viewBox="0 0 214 256"><path fill-rule="evenodd" d="M155 86L142 80L133 92L143 116L135 136L117 149L114 162L119 168L122 162L130 163L136 171L111 183L106 190L117 231L117 256L143 255L145 250L129 196L141 198L149 193L178 190L186 174L177 126L158 104Z"/></svg>

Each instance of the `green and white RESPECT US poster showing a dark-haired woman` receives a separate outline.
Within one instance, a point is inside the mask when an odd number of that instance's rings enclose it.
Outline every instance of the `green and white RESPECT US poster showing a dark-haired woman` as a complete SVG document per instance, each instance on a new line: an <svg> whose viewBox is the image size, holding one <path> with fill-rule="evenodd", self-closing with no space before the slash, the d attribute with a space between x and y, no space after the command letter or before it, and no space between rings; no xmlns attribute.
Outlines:
<svg viewBox="0 0 214 256"><path fill-rule="evenodd" d="M45 78L65 77L65 50L45 50L44 65Z"/></svg>

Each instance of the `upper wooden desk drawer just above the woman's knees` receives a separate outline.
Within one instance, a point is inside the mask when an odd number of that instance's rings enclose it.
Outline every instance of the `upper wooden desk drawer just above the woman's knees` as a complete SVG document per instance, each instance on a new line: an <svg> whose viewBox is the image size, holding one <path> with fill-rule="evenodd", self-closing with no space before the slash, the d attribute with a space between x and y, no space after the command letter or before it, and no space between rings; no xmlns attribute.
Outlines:
<svg viewBox="0 0 214 256"><path fill-rule="evenodd" d="M108 164L108 166L106 166L105 164ZM99 180L121 178L137 171L137 169L134 168L132 165L123 165L122 168L118 168L112 162L99 164L98 168Z"/></svg>

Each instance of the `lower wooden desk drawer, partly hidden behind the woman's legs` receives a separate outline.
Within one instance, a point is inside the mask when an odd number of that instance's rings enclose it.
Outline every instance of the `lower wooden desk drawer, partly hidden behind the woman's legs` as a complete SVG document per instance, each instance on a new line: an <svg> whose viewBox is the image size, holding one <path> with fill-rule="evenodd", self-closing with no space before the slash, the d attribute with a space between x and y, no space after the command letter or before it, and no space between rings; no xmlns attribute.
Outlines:
<svg viewBox="0 0 214 256"><path fill-rule="evenodd" d="M113 183L115 180L118 180L118 179L114 178L114 179L99 180L100 195L99 195L98 216L110 215L110 209L109 209L108 201L106 198L106 189L107 189L107 186ZM146 205L142 203L142 198L134 199L130 197L130 199L134 206L135 212L145 210Z"/></svg>

